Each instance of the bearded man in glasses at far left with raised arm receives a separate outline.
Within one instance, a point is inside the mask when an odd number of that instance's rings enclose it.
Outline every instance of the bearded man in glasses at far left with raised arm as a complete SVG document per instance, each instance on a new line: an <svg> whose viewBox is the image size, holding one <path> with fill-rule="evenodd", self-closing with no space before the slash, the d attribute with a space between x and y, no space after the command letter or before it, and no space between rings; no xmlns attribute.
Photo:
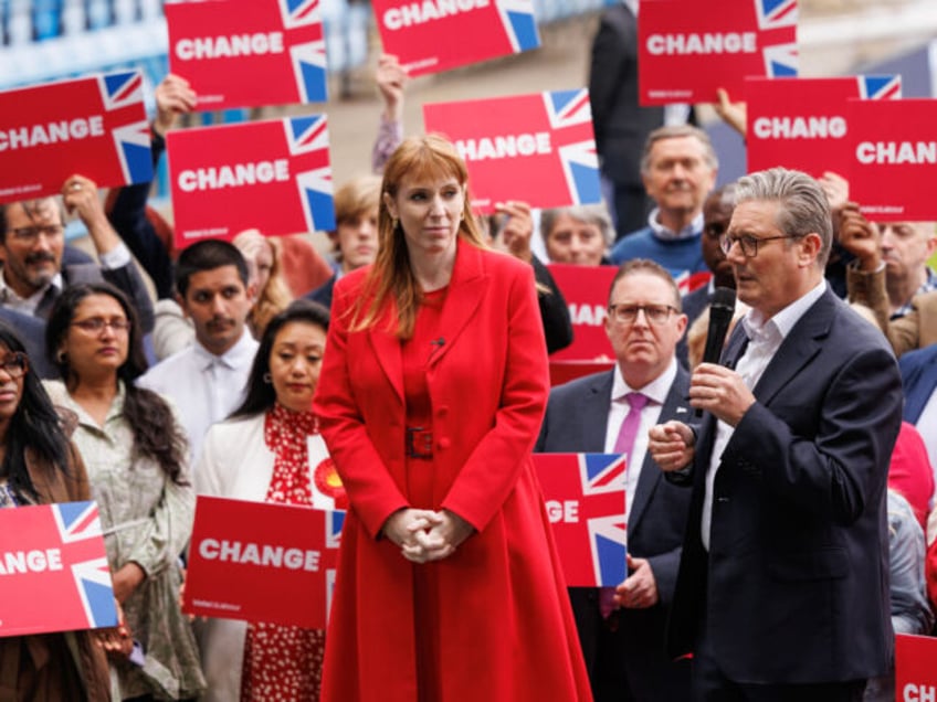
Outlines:
<svg viewBox="0 0 937 702"><path fill-rule="evenodd" d="M101 266L63 264L66 210L87 227ZM144 331L152 330L152 300L130 252L104 214L97 185L87 178L70 177L61 203L40 198L0 204L0 259L3 307L46 319L66 286L107 281L130 299Z"/></svg>

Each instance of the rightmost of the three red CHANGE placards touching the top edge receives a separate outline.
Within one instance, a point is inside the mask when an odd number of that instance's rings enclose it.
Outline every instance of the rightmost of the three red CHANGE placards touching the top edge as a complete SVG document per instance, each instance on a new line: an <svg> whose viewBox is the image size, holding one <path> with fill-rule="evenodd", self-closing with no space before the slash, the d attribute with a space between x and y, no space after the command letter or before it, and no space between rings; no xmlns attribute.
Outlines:
<svg viewBox="0 0 937 702"><path fill-rule="evenodd" d="M796 76L797 14L797 0L641 0L640 103L738 99L747 76Z"/></svg>

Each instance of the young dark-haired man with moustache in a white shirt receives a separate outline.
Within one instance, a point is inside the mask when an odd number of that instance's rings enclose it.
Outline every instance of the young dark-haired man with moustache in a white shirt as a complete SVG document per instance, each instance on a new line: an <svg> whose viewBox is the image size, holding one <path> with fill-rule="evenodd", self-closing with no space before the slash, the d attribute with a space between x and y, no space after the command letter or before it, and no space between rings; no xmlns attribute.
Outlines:
<svg viewBox="0 0 937 702"><path fill-rule="evenodd" d="M209 427L244 398L257 350L245 325L254 290L241 252L219 240L198 242L179 255L176 290L196 342L152 366L137 384L173 401L194 465Z"/></svg>

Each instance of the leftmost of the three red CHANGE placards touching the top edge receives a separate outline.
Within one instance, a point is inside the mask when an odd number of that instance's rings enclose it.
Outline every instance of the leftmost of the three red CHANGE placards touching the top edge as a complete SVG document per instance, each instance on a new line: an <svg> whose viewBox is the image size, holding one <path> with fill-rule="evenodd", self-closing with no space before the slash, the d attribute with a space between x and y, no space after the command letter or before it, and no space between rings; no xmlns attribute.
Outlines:
<svg viewBox="0 0 937 702"><path fill-rule="evenodd" d="M327 99L319 0L167 2L169 70L199 109Z"/></svg>

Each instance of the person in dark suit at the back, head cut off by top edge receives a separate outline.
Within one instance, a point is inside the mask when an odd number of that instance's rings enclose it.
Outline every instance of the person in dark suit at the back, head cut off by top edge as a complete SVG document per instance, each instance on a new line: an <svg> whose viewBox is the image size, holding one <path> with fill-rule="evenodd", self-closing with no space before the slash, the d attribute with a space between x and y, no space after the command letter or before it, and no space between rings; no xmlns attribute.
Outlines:
<svg viewBox="0 0 937 702"><path fill-rule="evenodd" d="M636 0L602 14L592 42L589 102L602 176L614 191L617 238L648 224L651 201L641 179L648 135L664 124L663 107L638 104Z"/></svg>

